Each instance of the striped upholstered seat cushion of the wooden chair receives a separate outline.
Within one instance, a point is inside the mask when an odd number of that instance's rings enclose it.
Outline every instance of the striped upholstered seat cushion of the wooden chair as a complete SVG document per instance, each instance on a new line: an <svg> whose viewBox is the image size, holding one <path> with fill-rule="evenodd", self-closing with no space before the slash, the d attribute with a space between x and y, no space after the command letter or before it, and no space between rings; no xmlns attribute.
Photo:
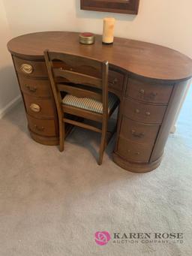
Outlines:
<svg viewBox="0 0 192 256"><path fill-rule="evenodd" d="M118 98L113 94L109 93L108 98L108 111L113 109L115 103L118 101ZM89 110L95 113L103 113L103 104L100 101L96 101L92 98L77 98L74 95L66 95L63 100L62 104L78 107L83 110Z"/></svg>

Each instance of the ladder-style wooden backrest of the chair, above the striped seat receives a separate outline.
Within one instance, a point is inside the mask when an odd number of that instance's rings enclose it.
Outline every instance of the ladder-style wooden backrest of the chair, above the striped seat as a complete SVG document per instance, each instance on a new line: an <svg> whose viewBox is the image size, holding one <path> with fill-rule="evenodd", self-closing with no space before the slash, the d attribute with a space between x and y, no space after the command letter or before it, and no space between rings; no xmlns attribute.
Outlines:
<svg viewBox="0 0 192 256"><path fill-rule="evenodd" d="M61 92L78 98L93 98L103 104L103 114L108 113L108 71L107 61L99 62L68 53L44 51L46 67L55 104L62 113Z"/></svg>

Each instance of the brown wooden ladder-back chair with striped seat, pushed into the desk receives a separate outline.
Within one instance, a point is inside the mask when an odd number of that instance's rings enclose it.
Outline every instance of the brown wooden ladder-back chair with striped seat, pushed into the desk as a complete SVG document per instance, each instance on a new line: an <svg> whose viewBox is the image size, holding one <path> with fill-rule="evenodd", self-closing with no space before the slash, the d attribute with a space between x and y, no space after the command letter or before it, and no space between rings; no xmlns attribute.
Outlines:
<svg viewBox="0 0 192 256"><path fill-rule="evenodd" d="M108 62L49 50L44 57L58 111L60 151L64 150L64 123L87 128L101 133L98 164L102 164L108 119L119 104L118 98L108 93ZM100 122L102 128L69 119L65 114Z"/></svg>

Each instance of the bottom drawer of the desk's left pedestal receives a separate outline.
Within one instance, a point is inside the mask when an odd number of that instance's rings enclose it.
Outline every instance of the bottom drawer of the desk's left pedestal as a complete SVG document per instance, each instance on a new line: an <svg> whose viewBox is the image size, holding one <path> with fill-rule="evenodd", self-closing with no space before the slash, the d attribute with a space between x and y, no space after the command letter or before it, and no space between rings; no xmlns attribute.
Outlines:
<svg viewBox="0 0 192 256"><path fill-rule="evenodd" d="M36 134L43 136L55 136L55 122L54 120L42 120L36 119L32 116L28 116L28 128Z"/></svg>

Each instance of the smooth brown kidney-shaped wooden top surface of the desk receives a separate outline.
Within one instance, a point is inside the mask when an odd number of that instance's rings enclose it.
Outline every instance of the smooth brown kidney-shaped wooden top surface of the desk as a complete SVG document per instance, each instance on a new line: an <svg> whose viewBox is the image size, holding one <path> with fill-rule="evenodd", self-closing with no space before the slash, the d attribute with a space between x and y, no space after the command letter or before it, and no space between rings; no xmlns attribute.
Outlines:
<svg viewBox="0 0 192 256"><path fill-rule="evenodd" d="M132 74L160 80L186 80L192 76L192 60L175 50L142 41L115 38L113 45L79 44L77 32L38 32L13 38L8 44L11 53L38 59L45 49L108 60L110 64Z"/></svg>

